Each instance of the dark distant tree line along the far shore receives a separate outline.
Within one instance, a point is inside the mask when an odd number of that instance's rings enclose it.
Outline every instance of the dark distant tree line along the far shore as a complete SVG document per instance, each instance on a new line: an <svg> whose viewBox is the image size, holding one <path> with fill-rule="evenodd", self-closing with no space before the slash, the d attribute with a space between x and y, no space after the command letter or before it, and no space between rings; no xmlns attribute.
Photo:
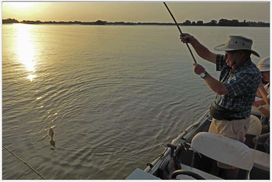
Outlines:
<svg viewBox="0 0 272 182"><path fill-rule="evenodd" d="M21 22L8 18L6 20L2 20L2 23L23 23L23 24L79 24L79 25L175 25L174 23L131 23L131 22L107 22L107 21L94 21L94 22L81 22L81 21L29 21L23 20ZM212 20L207 23L203 23L203 21L193 21L186 20L183 23L178 23L180 26L233 26L233 27L270 27L270 23L265 23L262 21L253 22L253 21L242 21L238 20L227 20L220 19L218 22L216 20Z"/></svg>

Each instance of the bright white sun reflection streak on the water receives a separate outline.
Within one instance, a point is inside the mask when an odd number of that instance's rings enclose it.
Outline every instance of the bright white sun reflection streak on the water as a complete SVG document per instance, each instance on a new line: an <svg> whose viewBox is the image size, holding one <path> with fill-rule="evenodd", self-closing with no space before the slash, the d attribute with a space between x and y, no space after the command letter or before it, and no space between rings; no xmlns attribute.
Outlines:
<svg viewBox="0 0 272 182"><path fill-rule="evenodd" d="M31 82L37 76L35 73L35 49L32 43L32 34L30 32L32 25L25 24L15 24L17 30L17 55L18 60L24 64L26 70L29 71L28 76L26 77Z"/></svg>

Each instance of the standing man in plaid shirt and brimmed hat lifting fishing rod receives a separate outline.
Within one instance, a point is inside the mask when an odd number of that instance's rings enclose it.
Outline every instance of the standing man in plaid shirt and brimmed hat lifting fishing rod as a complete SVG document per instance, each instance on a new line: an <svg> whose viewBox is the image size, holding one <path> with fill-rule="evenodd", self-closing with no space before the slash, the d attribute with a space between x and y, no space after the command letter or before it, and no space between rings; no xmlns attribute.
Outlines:
<svg viewBox="0 0 272 182"><path fill-rule="evenodd" d="M221 71L217 80L203 66L193 64L194 72L217 93L210 107L213 120L209 132L244 143L251 107L261 82L261 73L250 59L251 54L260 57L251 49L253 41L245 36L229 36L226 44L214 48L225 51L225 55L220 55L211 52L190 34L182 33L180 39L183 43L190 43L201 58L216 64L216 70ZM220 162L217 165L226 169L226 179L237 178L238 168Z"/></svg>

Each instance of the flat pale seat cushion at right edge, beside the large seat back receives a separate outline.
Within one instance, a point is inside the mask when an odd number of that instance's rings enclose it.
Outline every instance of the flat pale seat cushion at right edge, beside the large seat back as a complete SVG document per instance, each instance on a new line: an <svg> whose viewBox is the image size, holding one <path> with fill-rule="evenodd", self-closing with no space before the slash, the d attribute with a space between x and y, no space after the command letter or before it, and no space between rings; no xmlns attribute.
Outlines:
<svg viewBox="0 0 272 182"><path fill-rule="evenodd" d="M270 172L270 154L254 149L251 149L251 151L254 155L253 167L266 172Z"/></svg>

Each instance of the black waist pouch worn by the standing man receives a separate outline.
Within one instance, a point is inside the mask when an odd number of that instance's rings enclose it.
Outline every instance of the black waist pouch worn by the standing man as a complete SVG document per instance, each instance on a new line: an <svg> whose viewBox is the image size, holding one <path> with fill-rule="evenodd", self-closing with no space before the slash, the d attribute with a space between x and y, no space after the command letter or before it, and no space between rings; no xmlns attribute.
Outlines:
<svg viewBox="0 0 272 182"><path fill-rule="evenodd" d="M222 120L229 117L230 115L236 113L235 111L228 110L216 104L215 101L210 106L210 115L214 119Z"/></svg>

